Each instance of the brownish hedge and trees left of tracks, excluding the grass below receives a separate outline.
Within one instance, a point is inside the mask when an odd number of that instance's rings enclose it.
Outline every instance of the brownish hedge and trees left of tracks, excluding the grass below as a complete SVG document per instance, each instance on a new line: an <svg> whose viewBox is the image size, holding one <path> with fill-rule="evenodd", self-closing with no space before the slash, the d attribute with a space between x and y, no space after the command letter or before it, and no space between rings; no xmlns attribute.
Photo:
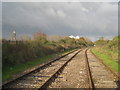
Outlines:
<svg viewBox="0 0 120 90"><path fill-rule="evenodd" d="M17 44L6 43L7 41L2 40L3 68L65 50L93 46L93 42L84 37L79 39L64 37L58 40L48 40L47 35L41 32L34 34L34 40L27 39Z"/></svg>

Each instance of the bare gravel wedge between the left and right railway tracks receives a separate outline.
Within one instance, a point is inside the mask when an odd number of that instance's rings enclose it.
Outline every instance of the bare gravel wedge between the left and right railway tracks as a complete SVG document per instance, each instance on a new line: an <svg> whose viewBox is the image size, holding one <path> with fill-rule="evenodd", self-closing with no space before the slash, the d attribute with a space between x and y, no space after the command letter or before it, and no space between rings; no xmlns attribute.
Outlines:
<svg viewBox="0 0 120 90"><path fill-rule="evenodd" d="M85 50L78 53L48 88L89 88Z"/></svg>

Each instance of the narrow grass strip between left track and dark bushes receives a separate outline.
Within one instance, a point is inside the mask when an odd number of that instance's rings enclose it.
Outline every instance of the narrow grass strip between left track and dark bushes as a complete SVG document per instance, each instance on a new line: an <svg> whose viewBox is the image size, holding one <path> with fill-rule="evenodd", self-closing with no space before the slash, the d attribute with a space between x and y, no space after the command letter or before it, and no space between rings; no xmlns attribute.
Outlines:
<svg viewBox="0 0 120 90"><path fill-rule="evenodd" d="M19 73L21 73L21 72L23 72L23 71L25 71L27 69L30 69L30 68L33 68L33 67L35 67L37 65L45 63L48 60L53 59L58 55L64 55L64 54L67 54L67 53L72 52L74 50L76 50L76 49L67 50L67 51L64 51L63 53L44 56L44 57L41 57L41 58L37 58L36 60L33 60L33 61L28 61L28 62L23 63L23 64L15 65L13 67L7 66L2 70L3 71L2 72L2 80L3 81L9 80L16 74L19 74Z"/></svg>

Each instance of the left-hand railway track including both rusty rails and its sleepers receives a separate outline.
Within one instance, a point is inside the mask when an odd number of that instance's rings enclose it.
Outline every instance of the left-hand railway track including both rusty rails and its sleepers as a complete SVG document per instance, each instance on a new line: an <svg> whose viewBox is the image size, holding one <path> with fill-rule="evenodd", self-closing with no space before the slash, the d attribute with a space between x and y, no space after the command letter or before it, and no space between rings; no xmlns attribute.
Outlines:
<svg viewBox="0 0 120 90"><path fill-rule="evenodd" d="M56 60L53 60L32 72L29 72L13 81L10 81L2 88L44 88L59 74L63 68L71 61L81 50L68 53Z"/></svg>

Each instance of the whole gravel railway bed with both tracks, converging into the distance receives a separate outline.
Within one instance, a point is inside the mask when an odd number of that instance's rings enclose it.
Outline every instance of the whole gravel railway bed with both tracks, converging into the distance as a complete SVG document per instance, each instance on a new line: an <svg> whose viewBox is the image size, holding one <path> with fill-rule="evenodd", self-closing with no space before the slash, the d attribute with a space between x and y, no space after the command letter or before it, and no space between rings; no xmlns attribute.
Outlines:
<svg viewBox="0 0 120 90"><path fill-rule="evenodd" d="M119 88L119 76L90 49L83 49L53 60L3 88Z"/></svg>

